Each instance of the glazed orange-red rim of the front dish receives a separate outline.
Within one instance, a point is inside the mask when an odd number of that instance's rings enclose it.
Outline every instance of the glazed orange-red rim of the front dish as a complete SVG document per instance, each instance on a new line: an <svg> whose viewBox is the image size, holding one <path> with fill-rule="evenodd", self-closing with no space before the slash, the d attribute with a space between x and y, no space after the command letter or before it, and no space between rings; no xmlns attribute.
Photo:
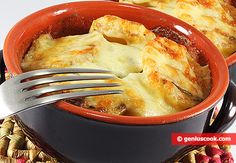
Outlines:
<svg viewBox="0 0 236 163"><path fill-rule="evenodd" d="M167 19L175 20L175 22L178 22L182 24L184 27L191 29L191 31L194 32L196 35L200 35L201 38L205 41L205 43L208 45L207 51L211 51L211 53L214 53L215 55L213 57L214 62L213 61L209 62L210 67L211 67L211 72L215 72L217 74L213 74L212 76L212 80L213 80L212 90L211 90L210 95L204 101L202 101L200 104L192 108L189 108L187 110L180 111L174 114L168 114L168 115L163 115L163 116L153 116L153 117L112 115L108 113L101 113L98 111L84 109L84 108L81 108L79 106L76 106L76 105L73 105L64 101L59 101L56 103L56 106L59 107L60 109L69 111L73 114L80 115L89 119L108 122L108 123L126 124L126 125L154 125L154 124L174 123L174 122L178 122L181 120L185 120L185 119L197 116L201 114L202 112L213 107L224 96L228 87L228 83L229 83L228 67L223 56L220 54L218 49L210 42L209 39L207 39L203 34L201 34L199 31L197 31L195 28L191 27L187 23L177 18L174 18L172 16L169 16L167 14L161 13L156 10L151 10L142 6L136 6L136 5L124 4L124 3L118 3L118 2L110 2L110 1L80 1L80 2L63 3L63 4L54 5L54 6L39 10L37 12L34 12L31 15L19 21L10 30L4 43L4 60L5 60L8 70L12 74L22 73L21 70L17 69L16 66L14 65L15 62L11 60L12 55L10 54L14 52L12 50L13 48L11 49L11 42L12 42L12 39L14 39L14 33L19 32L18 31L19 28L22 28L24 25L26 25L25 23L29 23L29 21L32 21L34 18L37 18L38 16L46 15L50 12L52 13L52 12L55 12L55 10L59 10L62 8L65 8L65 9L73 8L73 6L76 6L76 4L77 5L79 4L80 6L84 6L84 7L89 6L89 8L92 6L98 8L98 5L106 6L106 7L110 6L110 7L116 7L116 8L128 7L130 9L143 10L143 12L147 12L150 14L157 14ZM229 59L227 59L228 63L230 64L233 64L235 60L236 60L235 54L229 57ZM217 85L221 85L221 86L219 87Z"/></svg>

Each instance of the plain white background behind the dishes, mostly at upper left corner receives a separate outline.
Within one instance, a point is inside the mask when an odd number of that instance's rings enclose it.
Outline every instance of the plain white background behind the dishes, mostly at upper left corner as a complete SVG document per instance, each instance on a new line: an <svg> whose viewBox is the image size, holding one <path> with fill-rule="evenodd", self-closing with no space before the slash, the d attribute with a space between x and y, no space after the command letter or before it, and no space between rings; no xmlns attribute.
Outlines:
<svg viewBox="0 0 236 163"><path fill-rule="evenodd" d="M39 9L65 2L73 2L75 0L6 0L0 2L0 49L3 48L4 39L11 27L20 19ZM236 122L227 131L236 133ZM236 146L232 149L236 158Z"/></svg>

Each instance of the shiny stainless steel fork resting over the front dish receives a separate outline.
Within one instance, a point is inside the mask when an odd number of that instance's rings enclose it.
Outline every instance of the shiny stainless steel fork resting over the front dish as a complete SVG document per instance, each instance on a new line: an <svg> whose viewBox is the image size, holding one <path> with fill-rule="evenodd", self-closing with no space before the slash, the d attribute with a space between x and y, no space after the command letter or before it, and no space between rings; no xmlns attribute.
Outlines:
<svg viewBox="0 0 236 163"><path fill-rule="evenodd" d="M80 75L73 75L73 73L80 73ZM84 75L84 73L89 74ZM99 73L99 75L90 73ZM122 93L121 90L83 90L83 88L116 87L119 86L119 84L117 83L98 83L96 81L94 83L63 83L62 85L48 85L50 83L67 81L112 79L113 76L109 73L110 72L107 70L99 69L62 68L35 70L20 74L14 78L5 81L0 86L0 119L3 119L7 116L16 114L27 109L32 109L38 106L54 103L58 100ZM52 76L57 74L67 75ZM48 75L50 75L50 77ZM43 84L47 85L45 87L35 87ZM42 96L46 93L71 89L76 89L76 91Z"/></svg>

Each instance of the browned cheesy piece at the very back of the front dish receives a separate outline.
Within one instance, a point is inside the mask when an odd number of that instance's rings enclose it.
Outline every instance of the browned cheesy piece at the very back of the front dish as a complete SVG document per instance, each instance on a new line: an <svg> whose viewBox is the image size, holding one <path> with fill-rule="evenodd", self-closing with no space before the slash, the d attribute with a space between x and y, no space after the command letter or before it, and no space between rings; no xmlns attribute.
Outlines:
<svg viewBox="0 0 236 163"><path fill-rule="evenodd" d="M90 32L92 31L102 33L109 40L120 40L121 43L139 48L142 48L147 41L151 41L156 37L153 32L140 23L111 15L94 20L90 27Z"/></svg>

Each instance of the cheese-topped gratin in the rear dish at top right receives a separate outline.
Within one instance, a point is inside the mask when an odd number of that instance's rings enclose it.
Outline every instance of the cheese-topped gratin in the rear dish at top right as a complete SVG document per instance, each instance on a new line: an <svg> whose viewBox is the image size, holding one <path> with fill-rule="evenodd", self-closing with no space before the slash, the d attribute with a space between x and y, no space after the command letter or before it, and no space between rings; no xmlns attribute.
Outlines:
<svg viewBox="0 0 236 163"><path fill-rule="evenodd" d="M225 56L236 51L236 22L219 0L120 0L177 17L205 34Z"/></svg>

